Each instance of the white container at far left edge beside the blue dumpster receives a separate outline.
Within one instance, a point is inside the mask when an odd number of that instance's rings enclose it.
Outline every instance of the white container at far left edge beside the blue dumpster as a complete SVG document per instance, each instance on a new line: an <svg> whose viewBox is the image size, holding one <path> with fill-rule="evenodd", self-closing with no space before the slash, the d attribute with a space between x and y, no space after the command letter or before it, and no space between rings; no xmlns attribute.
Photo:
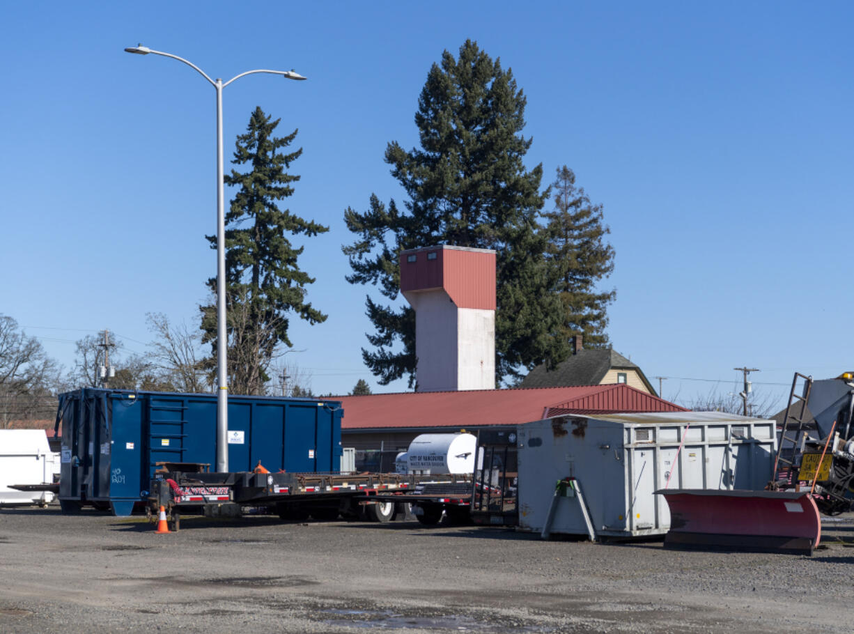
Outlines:
<svg viewBox="0 0 854 634"><path fill-rule="evenodd" d="M0 505L47 504L54 498L50 491L19 491L9 484L51 484L59 467L44 430L0 430Z"/></svg>

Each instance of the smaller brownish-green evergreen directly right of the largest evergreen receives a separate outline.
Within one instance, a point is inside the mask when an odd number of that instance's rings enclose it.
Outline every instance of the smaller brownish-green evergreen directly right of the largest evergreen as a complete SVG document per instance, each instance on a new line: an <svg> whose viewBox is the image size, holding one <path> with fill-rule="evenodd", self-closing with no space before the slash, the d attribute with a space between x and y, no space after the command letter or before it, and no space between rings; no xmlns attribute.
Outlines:
<svg viewBox="0 0 854 634"><path fill-rule="evenodd" d="M554 210L547 221L547 258L551 290L564 308L564 337L582 334L585 345L605 346L607 307L617 291L598 291L597 285L614 270L614 249L605 242L611 229L604 224L602 206L590 203L576 174L564 165L552 189Z"/></svg>

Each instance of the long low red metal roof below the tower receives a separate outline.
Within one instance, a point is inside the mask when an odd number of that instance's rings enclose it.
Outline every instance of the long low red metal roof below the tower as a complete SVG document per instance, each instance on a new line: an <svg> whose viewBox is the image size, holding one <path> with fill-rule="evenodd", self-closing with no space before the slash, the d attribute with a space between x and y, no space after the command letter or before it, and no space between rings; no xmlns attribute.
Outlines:
<svg viewBox="0 0 854 634"><path fill-rule="evenodd" d="M336 396L342 429L518 425L557 414L684 412L629 385L574 385L514 390L404 392Z"/></svg>

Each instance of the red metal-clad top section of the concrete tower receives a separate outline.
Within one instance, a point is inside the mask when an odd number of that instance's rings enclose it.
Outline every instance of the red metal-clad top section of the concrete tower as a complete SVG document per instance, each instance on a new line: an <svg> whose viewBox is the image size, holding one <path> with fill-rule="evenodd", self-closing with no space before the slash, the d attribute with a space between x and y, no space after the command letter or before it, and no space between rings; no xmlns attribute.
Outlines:
<svg viewBox="0 0 854 634"><path fill-rule="evenodd" d="M495 309L495 251L440 244L401 251L401 291L442 289L457 308Z"/></svg>

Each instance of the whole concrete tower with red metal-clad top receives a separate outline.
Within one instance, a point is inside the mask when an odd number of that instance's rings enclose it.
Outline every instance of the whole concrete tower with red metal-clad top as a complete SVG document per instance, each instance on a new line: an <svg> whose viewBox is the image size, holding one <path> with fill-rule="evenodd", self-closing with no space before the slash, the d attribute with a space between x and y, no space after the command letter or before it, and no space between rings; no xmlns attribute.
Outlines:
<svg viewBox="0 0 854 634"><path fill-rule="evenodd" d="M415 309L417 390L494 390L495 251L403 251L401 291Z"/></svg>

